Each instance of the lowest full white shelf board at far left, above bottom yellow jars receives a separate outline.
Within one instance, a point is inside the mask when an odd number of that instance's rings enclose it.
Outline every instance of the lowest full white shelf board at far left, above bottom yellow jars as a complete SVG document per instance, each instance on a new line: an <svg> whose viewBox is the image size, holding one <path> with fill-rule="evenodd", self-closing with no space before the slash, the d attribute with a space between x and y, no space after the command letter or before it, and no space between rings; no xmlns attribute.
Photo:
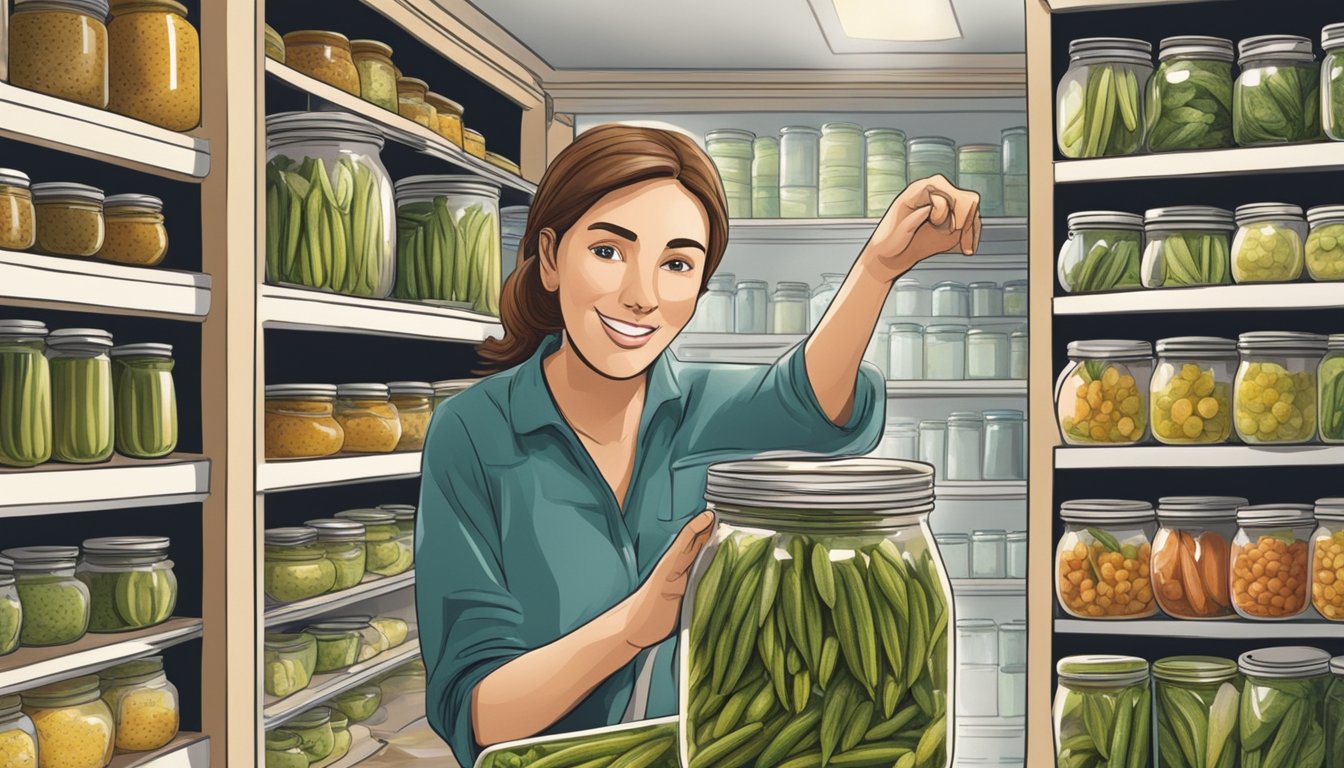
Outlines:
<svg viewBox="0 0 1344 768"><path fill-rule="evenodd" d="M0 656L0 695L89 675L122 662L152 656L200 638L200 619L169 619L157 627L102 635L90 632L66 646L19 648Z"/></svg>

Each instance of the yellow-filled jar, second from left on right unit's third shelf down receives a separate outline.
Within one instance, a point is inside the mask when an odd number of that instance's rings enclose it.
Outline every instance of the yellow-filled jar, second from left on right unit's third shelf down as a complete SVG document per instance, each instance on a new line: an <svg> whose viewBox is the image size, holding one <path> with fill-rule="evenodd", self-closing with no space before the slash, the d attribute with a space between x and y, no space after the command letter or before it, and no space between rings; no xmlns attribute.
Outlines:
<svg viewBox="0 0 1344 768"><path fill-rule="evenodd" d="M1236 342L1231 339L1160 339L1149 386L1153 437L1167 445L1227 443L1235 373Z"/></svg>

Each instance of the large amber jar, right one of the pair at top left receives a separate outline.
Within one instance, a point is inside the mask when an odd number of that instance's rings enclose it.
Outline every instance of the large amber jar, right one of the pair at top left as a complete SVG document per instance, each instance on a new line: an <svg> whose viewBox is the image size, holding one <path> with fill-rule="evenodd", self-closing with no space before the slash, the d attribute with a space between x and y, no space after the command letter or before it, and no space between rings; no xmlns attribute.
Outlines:
<svg viewBox="0 0 1344 768"><path fill-rule="evenodd" d="M168 130L200 124L200 35L177 0L112 0L108 109Z"/></svg>

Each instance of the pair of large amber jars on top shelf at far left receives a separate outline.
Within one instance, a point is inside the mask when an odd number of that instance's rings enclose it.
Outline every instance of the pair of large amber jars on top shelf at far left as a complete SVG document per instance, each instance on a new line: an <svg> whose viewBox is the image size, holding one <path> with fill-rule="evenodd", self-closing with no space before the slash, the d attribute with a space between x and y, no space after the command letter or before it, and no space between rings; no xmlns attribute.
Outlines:
<svg viewBox="0 0 1344 768"><path fill-rule="evenodd" d="M200 36L176 0L15 0L9 82L190 130L200 124Z"/></svg>

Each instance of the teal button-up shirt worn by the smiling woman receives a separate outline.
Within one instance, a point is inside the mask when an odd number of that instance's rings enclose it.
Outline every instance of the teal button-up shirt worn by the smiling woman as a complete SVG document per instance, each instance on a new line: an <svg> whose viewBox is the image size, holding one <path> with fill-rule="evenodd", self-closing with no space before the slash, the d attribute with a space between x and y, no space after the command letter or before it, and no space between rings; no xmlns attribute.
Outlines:
<svg viewBox="0 0 1344 768"><path fill-rule="evenodd" d="M425 443L415 603L426 712L464 767L480 751L476 685L633 593L704 508L710 464L769 451L867 453L882 434L876 370L863 369L853 416L836 426L812 391L801 344L770 366L683 363L664 352L648 374L622 514L547 389L542 360L558 346L548 338L527 362L438 406ZM550 732L620 722L637 677L648 681L644 717L676 714L675 660L673 636Z"/></svg>

